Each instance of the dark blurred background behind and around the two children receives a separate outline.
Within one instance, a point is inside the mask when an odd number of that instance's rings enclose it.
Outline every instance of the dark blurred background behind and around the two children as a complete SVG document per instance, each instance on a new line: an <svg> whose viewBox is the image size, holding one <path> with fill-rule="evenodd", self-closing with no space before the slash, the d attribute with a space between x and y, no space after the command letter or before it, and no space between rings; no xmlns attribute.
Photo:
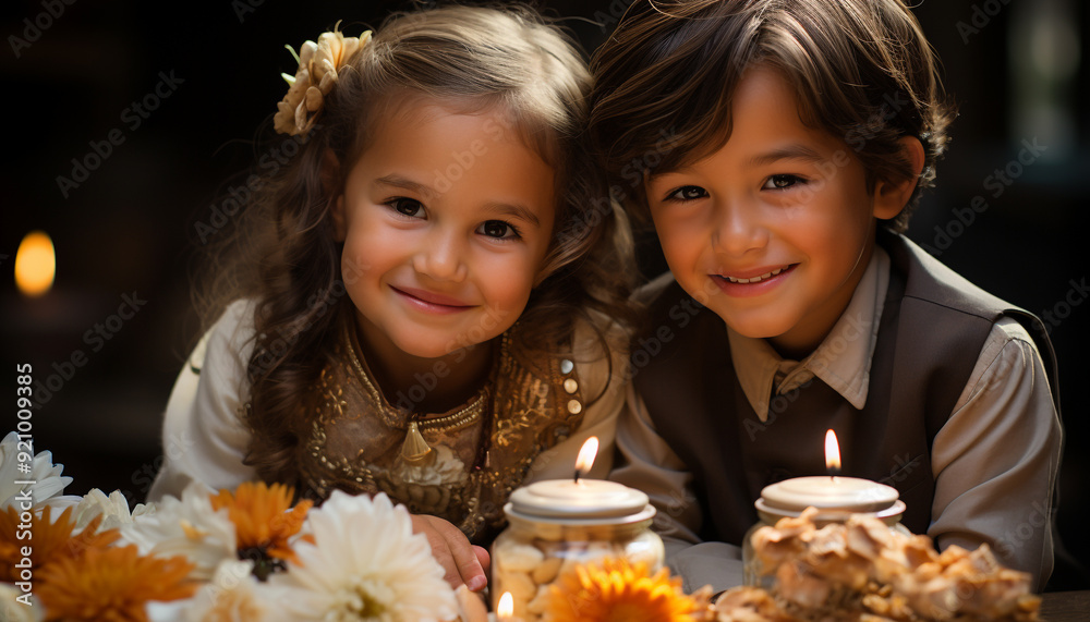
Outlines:
<svg viewBox="0 0 1090 622"><path fill-rule="evenodd" d="M627 4L545 7L596 21L567 22L593 49ZM355 35L401 8L380 0L4 3L0 338L10 402L0 434L15 427L15 364L31 363L44 387L35 442L74 477L70 493L120 489L138 501L147 491L161 411L199 329L190 301L195 225L216 224L214 206L263 153L254 138L286 92L280 72L295 70L283 45L298 48L338 20ZM1086 562L1090 11L1079 0L932 0L916 13L961 114L910 235L984 289L1051 318L1067 435L1059 525ZM174 82L159 87L167 96L152 98L157 106L146 118L134 117L133 102L164 76ZM113 130L123 143L96 163L92 143L106 154L101 142ZM1046 148L1025 150L1034 141ZM83 181L73 176L73 158L94 169ZM68 196L60 175L78 183ZM976 196L988 207L973 211ZM12 268L20 240L35 229L52 236L58 273L46 296L27 300ZM647 245L647 266L659 265L656 252ZM136 306L122 319L126 295Z"/></svg>

